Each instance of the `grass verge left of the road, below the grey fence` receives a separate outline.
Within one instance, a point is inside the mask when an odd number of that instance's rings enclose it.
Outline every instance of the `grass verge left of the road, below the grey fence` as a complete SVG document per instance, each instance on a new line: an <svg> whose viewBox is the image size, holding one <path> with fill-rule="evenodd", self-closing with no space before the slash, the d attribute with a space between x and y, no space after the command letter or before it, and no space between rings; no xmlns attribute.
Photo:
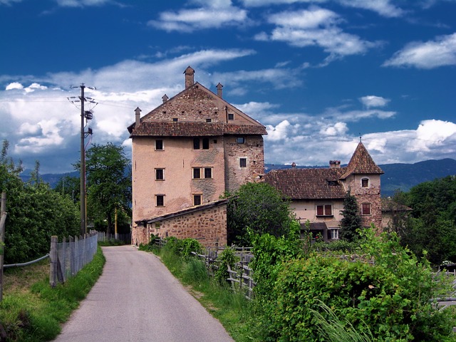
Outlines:
<svg viewBox="0 0 456 342"><path fill-rule="evenodd" d="M61 323L86 298L97 281L105 257L98 248L93 261L76 276L54 289L49 286L49 261L21 269L6 269L4 299L0 302L0 323L7 341L51 341L61 331Z"/></svg>

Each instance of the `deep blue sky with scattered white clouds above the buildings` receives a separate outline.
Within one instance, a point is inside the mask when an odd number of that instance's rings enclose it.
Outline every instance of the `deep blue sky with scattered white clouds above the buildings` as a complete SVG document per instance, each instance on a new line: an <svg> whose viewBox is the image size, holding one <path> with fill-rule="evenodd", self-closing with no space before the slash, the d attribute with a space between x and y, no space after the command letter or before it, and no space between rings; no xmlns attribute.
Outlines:
<svg viewBox="0 0 456 342"><path fill-rule="evenodd" d="M456 0L0 0L0 140L41 173L125 146L183 72L266 126L273 164L455 158ZM68 100L69 98L69 100ZM88 141L89 143L89 141Z"/></svg>

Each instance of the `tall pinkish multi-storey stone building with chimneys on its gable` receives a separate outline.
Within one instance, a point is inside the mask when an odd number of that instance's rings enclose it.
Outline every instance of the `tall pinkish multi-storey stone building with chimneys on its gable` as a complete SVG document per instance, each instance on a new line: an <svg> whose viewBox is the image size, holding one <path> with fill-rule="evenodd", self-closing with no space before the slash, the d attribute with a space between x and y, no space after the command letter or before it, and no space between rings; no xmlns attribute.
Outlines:
<svg viewBox="0 0 456 342"><path fill-rule="evenodd" d="M226 244L226 203L219 201L220 196L264 174L266 128L224 100L220 83L217 94L212 93L194 76L189 66L185 90L172 98L164 95L162 104L142 117L137 108L135 123L128 127L133 244L147 243L152 233L196 237L206 245ZM225 212L224 219L214 212L209 217L218 235L208 233L205 219L192 219L186 232L182 227L179 234L172 229L175 224L170 219L184 217L182 223L185 217L195 217L195 212L207 215L208 205Z"/></svg>

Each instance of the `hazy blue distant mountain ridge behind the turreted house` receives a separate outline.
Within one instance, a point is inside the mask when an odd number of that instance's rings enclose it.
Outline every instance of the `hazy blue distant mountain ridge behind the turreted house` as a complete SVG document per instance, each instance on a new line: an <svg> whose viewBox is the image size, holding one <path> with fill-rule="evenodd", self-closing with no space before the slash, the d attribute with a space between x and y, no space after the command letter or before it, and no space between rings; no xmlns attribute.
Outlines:
<svg viewBox="0 0 456 342"><path fill-rule="evenodd" d="M284 169L290 165L264 165L266 172L274 169ZM346 165L342 165L346 166ZM446 158L442 160L425 160L414 164L383 164L381 167L384 175L381 176L382 197L392 196L395 190L408 192L410 188L423 182L435 180L449 175L456 175L456 160ZM299 168L328 167L328 166L297 166Z"/></svg>

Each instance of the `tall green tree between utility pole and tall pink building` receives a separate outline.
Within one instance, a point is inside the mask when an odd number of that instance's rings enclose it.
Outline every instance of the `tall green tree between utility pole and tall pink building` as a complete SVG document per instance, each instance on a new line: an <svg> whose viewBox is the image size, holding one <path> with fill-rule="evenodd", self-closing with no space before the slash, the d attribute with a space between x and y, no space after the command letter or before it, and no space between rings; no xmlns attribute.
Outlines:
<svg viewBox="0 0 456 342"><path fill-rule="evenodd" d="M93 145L86 153L88 219L113 233L115 212L121 212L123 226L131 216L131 167L123 147L108 142ZM125 222L126 221L126 222Z"/></svg>

